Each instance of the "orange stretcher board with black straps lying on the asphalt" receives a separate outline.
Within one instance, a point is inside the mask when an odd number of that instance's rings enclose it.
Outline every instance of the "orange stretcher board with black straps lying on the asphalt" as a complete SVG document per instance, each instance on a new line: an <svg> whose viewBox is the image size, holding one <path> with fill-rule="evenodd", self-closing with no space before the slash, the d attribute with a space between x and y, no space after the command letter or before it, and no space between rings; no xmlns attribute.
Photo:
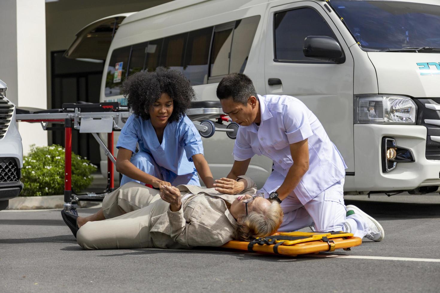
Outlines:
<svg viewBox="0 0 440 293"><path fill-rule="evenodd" d="M353 237L353 234L345 232L277 232L251 242L232 240L222 247L293 257L298 254L337 249L350 250L351 247L359 246L361 243L361 238Z"/></svg>

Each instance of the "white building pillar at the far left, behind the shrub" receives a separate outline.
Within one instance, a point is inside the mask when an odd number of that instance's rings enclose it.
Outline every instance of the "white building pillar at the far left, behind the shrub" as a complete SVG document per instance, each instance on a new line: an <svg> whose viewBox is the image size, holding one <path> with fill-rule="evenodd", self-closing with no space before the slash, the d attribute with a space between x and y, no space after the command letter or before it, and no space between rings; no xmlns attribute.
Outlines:
<svg viewBox="0 0 440 293"><path fill-rule="evenodd" d="M45 3L35 0L0 2L0 79L7 98L18 107L46 108ZM29 145L47 145L39 123L18 123L23 152Z"/></svg>

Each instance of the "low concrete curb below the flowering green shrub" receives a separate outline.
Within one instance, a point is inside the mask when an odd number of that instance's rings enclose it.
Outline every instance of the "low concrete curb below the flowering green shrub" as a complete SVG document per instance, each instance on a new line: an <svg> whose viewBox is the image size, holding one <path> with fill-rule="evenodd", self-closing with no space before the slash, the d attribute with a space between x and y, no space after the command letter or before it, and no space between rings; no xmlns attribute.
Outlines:
<svg viewBox="0 0 440 293"><path fill-rule="evenodd" d="M46 196L18 196L9 199L8 210L43 210L43 209L62 209L64 195ZM91 207L99 205L100 202L80 202L80 207Z"/></svg>

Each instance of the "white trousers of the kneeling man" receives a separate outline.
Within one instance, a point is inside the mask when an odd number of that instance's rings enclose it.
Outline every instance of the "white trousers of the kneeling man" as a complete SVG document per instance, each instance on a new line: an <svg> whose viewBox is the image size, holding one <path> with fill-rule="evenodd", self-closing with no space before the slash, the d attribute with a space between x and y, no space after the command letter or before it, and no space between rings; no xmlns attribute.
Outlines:
<svg viewBox="0 0 440 293"><path fill-rule="evenodd" d="M268 196L266 196L268 197ZM303 205L296 195L288 195L281 203L284 212L279 231L291 232L314 226L316 232L343 231L363 238L367 223L359 214L346 217L344 179L321 192Z"/></svg>

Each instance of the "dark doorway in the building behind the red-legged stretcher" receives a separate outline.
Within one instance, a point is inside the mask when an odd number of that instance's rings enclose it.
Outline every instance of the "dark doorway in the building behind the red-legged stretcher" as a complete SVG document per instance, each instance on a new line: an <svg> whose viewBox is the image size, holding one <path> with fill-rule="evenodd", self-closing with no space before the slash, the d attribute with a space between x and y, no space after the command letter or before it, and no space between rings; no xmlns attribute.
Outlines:
<svg viewBox="0 0 440 293"><path fill-rule="evenodd" d="M63 103L85 101L99 103L104 62L93 59L68 59L65 51L51 52L52 109ZM52 143L64 146L64 131L52 131ZM72 132L72 151L87 157L99 168L99 145L92 134Z"/></svg>

